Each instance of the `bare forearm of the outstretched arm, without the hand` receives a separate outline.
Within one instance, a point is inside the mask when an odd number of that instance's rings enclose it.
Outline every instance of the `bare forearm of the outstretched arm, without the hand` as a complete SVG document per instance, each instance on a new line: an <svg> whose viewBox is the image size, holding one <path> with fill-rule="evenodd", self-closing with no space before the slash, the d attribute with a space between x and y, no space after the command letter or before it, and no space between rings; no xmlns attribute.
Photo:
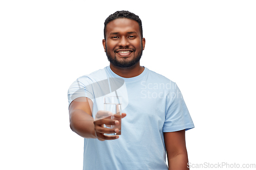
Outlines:
<svg viewBox="0 0 256 170"><path fill-rule="evenodd" d="M84 138L96 138L94 119L83 110L76 109L70 113L70 128Z"/></svg>

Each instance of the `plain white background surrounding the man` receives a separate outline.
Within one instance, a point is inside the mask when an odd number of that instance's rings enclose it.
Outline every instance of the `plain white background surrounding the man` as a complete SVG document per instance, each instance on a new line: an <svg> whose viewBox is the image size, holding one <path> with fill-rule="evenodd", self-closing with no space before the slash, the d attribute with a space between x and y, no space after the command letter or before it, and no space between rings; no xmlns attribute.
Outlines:
<svg viewBox="0 0 256 170"><path fill-rule="evenodd" d="M0 169L82 169L67 91L109 65L103 22L117 10L142 20L141 65L181 89L195 124L189 162L256 163L255 9L242 0L1 1Z"/></svg>

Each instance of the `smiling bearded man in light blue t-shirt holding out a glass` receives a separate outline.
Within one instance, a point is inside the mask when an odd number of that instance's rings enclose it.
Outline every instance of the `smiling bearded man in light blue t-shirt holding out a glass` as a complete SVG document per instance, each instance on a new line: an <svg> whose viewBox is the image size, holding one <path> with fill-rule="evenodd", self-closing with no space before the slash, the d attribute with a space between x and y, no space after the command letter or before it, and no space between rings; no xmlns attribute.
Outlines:
<svg viewBox="0 0 256 170"><path fill-rule="evenodd" d="M140 66L140 18L110 15L102 43L110 66L78 78L68 93L70 127L84 137L83 169L188 169L185 130L194 124L176 83ZM103 96L113 95L123 98L122 122L105 118ZM120 136L104 135L119 132L104 124L120 123Z"/></svg>

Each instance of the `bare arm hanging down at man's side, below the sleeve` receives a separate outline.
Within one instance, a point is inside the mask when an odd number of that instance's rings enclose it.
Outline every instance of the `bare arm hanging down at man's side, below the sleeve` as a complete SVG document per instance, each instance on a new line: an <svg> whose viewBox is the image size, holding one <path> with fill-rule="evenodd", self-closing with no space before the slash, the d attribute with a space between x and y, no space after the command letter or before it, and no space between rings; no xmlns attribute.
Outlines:
<svg viewBox="0 0 256 170"><path fill-rule="evenodd" d="M185 130L164 132L164 143L168 158L168 170L187 170L188 157Z"/></svg>

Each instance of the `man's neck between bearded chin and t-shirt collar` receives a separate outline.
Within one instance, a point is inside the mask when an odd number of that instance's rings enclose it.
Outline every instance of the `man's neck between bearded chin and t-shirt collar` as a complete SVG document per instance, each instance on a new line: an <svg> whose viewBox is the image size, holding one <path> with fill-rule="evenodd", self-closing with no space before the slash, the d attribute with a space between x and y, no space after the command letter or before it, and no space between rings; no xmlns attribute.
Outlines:
<svg viewBox="0 0 256 170"><path fill-rule="evenodd" d="M136 77L136 76L139 76L144 71L144 67L140 66L140 62L128 68L117 67L117 66L114 66L112 63L110 63L110 68L113 72L115 72L115 74L123 78Z"/></svg>

